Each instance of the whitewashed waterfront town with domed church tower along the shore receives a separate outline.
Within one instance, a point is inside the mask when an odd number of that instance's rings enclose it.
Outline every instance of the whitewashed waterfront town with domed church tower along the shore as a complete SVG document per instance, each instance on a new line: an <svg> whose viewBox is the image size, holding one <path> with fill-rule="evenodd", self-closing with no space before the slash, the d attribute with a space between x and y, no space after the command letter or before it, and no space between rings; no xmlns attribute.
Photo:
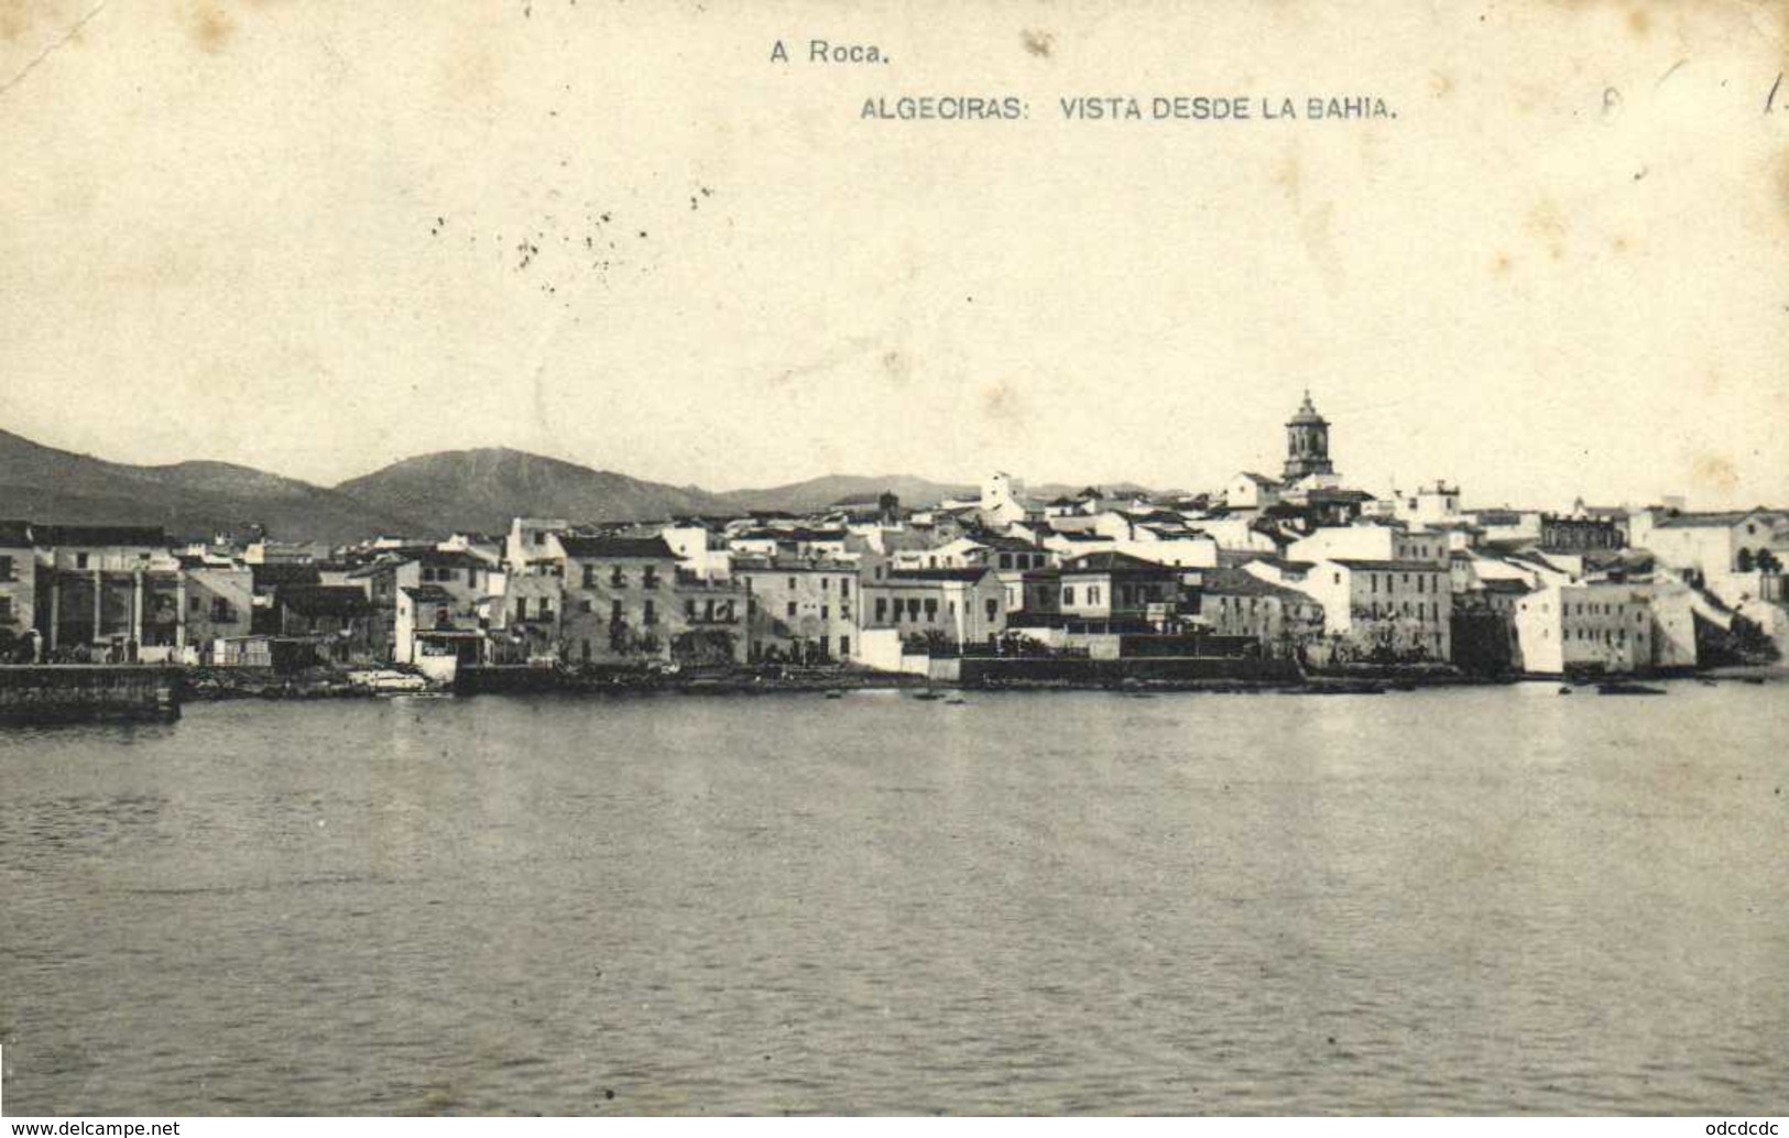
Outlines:
<svg viewBox="0 0 1789 1138"><path fill-rule="evenodd" d="M1789 510L1467 505L1354 488L1310 392L1285 465L1209 492L893 492L809 514L343 546L249 531L0 522L14 666L623 682L943 684L1615 678L1782 658Z"/></svg>

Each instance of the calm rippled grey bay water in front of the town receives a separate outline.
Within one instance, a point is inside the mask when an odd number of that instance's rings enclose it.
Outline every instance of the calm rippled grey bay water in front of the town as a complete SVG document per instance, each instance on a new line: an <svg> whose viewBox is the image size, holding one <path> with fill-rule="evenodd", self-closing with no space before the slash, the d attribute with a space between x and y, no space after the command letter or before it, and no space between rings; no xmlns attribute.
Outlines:
<svg viewBox="0 0 1789 1138"><path fill-rule="evenodd" d="M14 1115L1782 1113L1782 687L0 734Z"/></svg>

